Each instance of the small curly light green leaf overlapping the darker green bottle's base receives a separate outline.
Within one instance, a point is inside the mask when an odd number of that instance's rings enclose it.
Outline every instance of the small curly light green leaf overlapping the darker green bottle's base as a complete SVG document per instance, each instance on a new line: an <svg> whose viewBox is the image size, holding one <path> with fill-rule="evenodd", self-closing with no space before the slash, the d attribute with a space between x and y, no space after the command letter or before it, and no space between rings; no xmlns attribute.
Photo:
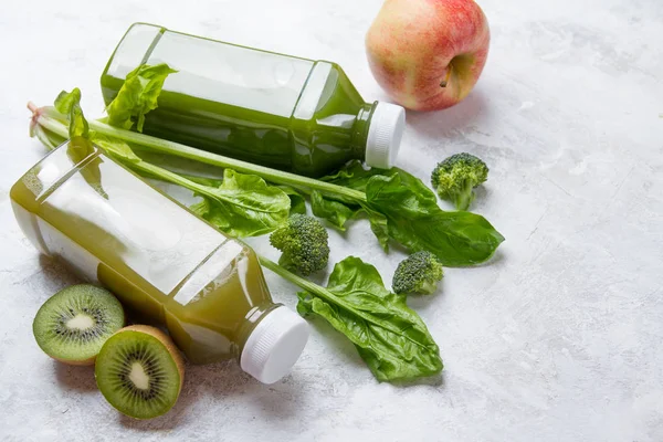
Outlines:
<svg viewBox="0 0 663 442"><path fill-rule="evenodd" d="M124 129L136 125L136 129L143 131L145 115L157 108L166 77L176 72L166 63L141 64L129 72L117 96L106 107L108 124Z"/></svg>

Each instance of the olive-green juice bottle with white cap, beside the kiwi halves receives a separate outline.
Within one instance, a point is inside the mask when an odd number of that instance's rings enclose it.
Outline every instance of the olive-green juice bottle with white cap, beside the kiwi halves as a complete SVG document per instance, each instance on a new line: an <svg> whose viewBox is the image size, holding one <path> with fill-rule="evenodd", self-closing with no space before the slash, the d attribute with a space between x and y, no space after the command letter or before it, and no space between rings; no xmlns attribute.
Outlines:
<svg viewBox="0 0 663 442"><path fill-rule="evenodd" d="M168 328L191 362L236 358L272 383L299 357L308 325L272 301L255 253L97 148L59 147L10 196L36 249Z"/></svg>

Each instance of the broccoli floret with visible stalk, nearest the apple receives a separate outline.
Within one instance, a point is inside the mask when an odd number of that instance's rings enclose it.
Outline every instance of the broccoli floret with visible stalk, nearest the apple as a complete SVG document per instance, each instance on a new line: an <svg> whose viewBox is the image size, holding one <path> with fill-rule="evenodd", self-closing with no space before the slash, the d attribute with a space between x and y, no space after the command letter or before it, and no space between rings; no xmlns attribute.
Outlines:
<svg viewBox="0 0 663 442"><path fill-rule="evenodd" d="M471 154L455 154L439 162L431 176L431 185L443 200L457 210L467 210L474 200L474 189L488 178L486 164Z"/></svg>

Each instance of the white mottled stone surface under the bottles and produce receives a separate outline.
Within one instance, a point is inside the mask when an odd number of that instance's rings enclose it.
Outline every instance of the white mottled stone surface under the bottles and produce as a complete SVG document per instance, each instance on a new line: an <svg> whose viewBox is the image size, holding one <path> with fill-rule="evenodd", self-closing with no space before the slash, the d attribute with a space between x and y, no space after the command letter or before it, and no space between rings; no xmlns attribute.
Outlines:
<svg viewBox="0 0 663 442"><path fill-rule="evenodd" d="M414 1L414 0L413 0ZM400 166L428 180L460 150L491 166L475 211L506 236L492 263L449 269L412 298L445 362L440 379L378 383L329 326L292 375L262 386L235 362L188 367L166 417L136 422L93 370L52 361L32 318L76 278L21 234L10 186L43 149L28 99L80 86L101 115L98 76L134 21L340 63L367 99L385 95L364 55L380 0L13 1L0 9L0 440L663 440L663 3L483 0L491 55L472 95L408 114ZM251 241L275 256L264 240ZM332 234L390 281L366 221ZM274 297L295 288L267 274Z"/></svg>

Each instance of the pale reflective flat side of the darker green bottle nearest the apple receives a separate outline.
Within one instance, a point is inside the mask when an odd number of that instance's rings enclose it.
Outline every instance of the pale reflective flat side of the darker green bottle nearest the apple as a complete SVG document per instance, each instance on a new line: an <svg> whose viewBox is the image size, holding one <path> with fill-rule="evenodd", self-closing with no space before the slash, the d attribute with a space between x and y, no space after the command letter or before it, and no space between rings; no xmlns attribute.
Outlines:
<svg viewBox="0 0 663 442"><path fill-rule="evenodd" d="M198 97L239 109L290 118L313 62L135 24L106 74L124 80L139 64L167 63L178 72L164 84L161 99Z"/></svg>

